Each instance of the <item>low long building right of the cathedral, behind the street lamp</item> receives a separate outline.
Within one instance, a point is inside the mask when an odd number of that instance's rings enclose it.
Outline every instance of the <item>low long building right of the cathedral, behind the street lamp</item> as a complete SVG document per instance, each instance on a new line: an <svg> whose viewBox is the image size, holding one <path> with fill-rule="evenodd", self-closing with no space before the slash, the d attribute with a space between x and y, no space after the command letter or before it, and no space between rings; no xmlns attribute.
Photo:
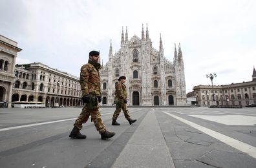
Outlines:
<svg viewBox="0 0 256 168"><path fill-rule="evenodd" d="M256 71L253 67L252 81L231 83L229 85L199 85L193 88L197 104L200 106L216 105L245 106L256 103Z"/></svg>

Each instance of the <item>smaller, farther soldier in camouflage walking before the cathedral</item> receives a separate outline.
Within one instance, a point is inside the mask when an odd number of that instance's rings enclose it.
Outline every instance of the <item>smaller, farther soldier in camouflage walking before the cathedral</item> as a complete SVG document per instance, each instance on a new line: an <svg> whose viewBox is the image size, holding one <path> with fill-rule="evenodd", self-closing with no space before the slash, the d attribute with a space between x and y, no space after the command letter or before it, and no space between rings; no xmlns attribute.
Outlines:
<svg viewBox="0 0 256 168"><path fill-rule="evenodd" d="M127 109L127 91L126 87L124 85L126 80L125 76L120 76L118 81L120 81L116 85L116 92L115 92L115 103L116 103L116 110L114 111L113 117L112 117L112 125L120 125L116 120L121 112L121 109L123 110L123 114L125 115L126 120L129 121L129 124L131 125L134 123L136 120L132 120L131 116L129 114L129 111Z"/></svg>

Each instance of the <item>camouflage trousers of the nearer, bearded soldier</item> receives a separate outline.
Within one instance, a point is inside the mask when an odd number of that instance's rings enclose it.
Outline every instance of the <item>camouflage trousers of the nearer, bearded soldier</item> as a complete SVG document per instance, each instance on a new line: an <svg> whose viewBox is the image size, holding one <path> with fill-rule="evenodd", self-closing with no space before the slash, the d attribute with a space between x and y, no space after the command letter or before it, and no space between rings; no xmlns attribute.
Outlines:
<svg viewBox="0 0 256 168"><path fill-rule="evenodd" d="M94 106L93 110L89 110L87 105L83 106L83 110L81 111L80 116L78 116L78 119L75 121L74 126L78 127L78 129L82 129L83 123L86 123L89 119L89 117L92 116L92 121L94 122L94 125L100 134L106 131L106 127L101 120L100 115L100 107Z"/></svg>

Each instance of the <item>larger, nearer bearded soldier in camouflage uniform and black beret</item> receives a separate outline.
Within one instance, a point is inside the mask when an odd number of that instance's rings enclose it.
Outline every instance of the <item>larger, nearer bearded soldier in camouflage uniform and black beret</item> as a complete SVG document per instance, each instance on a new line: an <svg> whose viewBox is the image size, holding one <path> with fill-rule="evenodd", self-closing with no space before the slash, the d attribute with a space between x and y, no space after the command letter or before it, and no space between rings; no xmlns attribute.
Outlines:
<svg viewBox="0 0 256 168"><path fill-rule="evenodd" d="M101 120L100 107L101 102L100 92L100 74L101 68L99 61L100 52L91 51L89 53L89 61L81 67L80 85L83 94L83 102L86 103L81 111L80 116L74 123L74 128L69 134L70 138L85 139L86 136L81 134L82 124L86 123L91 115L92 121L98 132L101 134L101 139L105 140L114 136L114 132L106 130L103 121Z"/></svg>

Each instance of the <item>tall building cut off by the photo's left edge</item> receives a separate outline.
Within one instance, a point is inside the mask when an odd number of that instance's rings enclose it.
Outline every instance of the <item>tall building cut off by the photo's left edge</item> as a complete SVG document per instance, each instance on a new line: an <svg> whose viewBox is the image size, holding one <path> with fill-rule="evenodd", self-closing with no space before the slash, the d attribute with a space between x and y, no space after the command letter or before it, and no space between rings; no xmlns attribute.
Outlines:
<svg viewBox="0 0 256 168"><path fill-rule="evenodd" d="M16 64L17 42L0 35L0 107L10 107L14 68Z"/></svg>

